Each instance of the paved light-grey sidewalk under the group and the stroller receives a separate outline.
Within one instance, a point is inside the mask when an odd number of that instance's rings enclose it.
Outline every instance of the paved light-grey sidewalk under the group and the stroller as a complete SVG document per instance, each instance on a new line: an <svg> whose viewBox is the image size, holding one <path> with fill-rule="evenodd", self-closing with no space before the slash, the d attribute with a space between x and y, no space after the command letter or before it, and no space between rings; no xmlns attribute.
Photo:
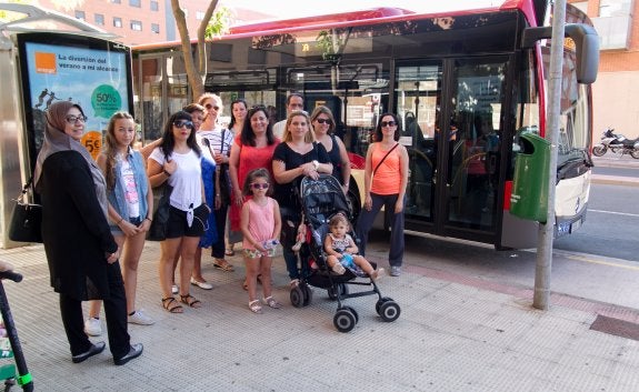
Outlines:
<svg viewBox="0 0 639 392"><path fill-rule="evenodd" d="M369 248L385 265L383 247ZM332 324L337 304L325 291L313 289L308 308L290 305L281 258L273 279L283 309L252 314L240 259L231 259L229 273L206 258L214 289L191 289L203 308L169 314L160 306L159 244L148 242L138 303L157 323L130 326L144 353L124 366L114 366L108 350L71 363L41 245L0 258L24 275L4 288L37 391L637 390L639 342L610 332L637 333L638 310L555 293L550 310L535 310L530 288L430 269L430 255L417 248L407 248L400 278L380 281L382 294L400 304L399 319L382 322L375 296L348 299L359 323L340 333Z"/></svg>

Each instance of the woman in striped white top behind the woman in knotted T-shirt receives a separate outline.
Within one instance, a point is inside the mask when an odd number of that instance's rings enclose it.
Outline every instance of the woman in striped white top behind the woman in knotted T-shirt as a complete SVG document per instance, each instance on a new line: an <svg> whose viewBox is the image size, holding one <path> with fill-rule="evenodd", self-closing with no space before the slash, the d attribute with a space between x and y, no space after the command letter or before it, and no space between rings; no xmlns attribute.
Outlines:
<svg viewBox="0 0 639 392"><path fill-rule="evenodd" d="M198 131L200 140L208 140L203 145L204 151L209 151L216 161L216 194L213 203L213 214L216 218L216 229L218 232L217 240L211 244L211 255L213 257L213 267L221 271L232 272L234 268L224 259L224 231L227 227L227 214L231 201L231 185L229 178L229 157L231 154L231 144L233 143L233 132L230 129L222 129L218 125L218 117L221 114L223 107L219 96L204 93L198 100L206 110L204 122ZM231 114L232 121L232 114Z"/></svg>

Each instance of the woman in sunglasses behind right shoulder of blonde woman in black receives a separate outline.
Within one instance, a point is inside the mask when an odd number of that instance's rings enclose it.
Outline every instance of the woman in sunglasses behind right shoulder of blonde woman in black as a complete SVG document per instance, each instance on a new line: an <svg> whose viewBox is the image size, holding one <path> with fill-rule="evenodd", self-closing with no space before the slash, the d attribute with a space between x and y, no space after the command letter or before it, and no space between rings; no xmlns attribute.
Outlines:
<svg viewBox="0 0 639 392"><path fill-rule="evenodd" d="M327 107L317 107L311 114L316 140L325 147L332 163L332 175L339 180L343 193L348 193L350 182L350 160L346 145L335 135L335 118Z"/></svg>

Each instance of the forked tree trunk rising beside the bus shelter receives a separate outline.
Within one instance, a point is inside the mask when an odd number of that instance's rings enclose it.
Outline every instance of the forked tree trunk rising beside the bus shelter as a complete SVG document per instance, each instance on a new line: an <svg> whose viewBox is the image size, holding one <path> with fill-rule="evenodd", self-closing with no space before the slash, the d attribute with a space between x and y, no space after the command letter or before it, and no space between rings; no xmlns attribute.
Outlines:
<svg viewBox="0 0 639 392"><path fill-rule="evenodd" d="M173 17L176 18L178 32L180 33L187 78L189 79L193 97L199 97L204 92L203 77L207 74L207 38L224 33L230 24L230 10L222 7L216 12L217 7L218 0L212 0L209 3L200 27L198 28L198 67L196 68L193 53L191 52L191 38L189 36L189 29L187 28L184 11L180 7L180 0L171 0Z"/></svg>

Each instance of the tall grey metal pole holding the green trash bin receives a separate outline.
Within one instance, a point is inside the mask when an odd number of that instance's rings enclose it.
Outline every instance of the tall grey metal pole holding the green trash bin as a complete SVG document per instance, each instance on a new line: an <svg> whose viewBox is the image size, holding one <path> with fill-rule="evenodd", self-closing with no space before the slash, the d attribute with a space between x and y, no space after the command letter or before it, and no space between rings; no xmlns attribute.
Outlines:
<svg viewBox="0 0 639 392"><path fill-rule="evenodd" d="M535 271L535 294L532 306L548 310L550 302L550 274L552 270L552 240L555 234L555 198L557 187L557 143L561 114L561 77L563 69L563 32L566 24L566 0L556 0L552 10L552 38L550 47L550 70L548 74L548 121L546 140L550 142L550 172L548 173L548 215L546 223L539 223L537 242L537 267Z"/></svg>

